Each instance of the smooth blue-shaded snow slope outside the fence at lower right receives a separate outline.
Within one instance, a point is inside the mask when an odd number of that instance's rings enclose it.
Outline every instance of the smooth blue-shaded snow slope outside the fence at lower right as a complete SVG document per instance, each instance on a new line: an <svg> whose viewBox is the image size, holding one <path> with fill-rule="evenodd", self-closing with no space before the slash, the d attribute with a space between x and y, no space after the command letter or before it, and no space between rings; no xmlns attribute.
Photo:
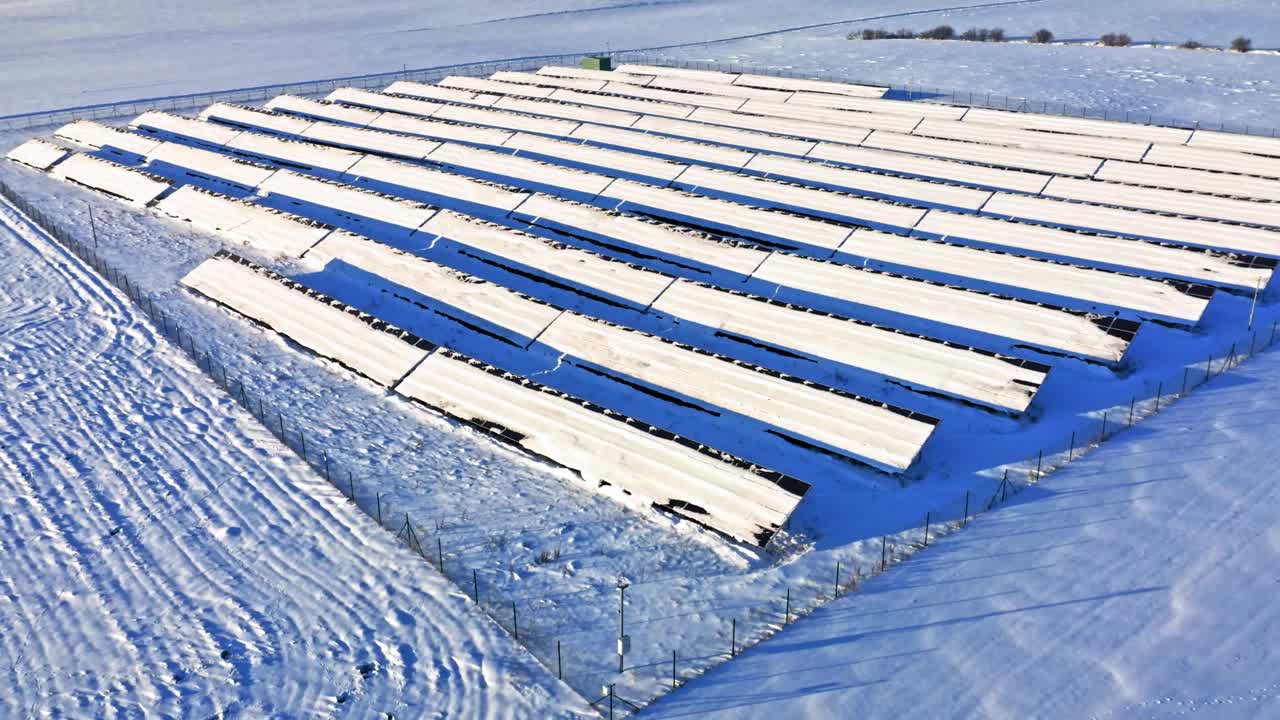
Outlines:
<svg viewBox="0 0 1280 720"><path fill-rule="evenodd" d="M1277 389L1258 356L645 716L1277 716Z"/></svg>

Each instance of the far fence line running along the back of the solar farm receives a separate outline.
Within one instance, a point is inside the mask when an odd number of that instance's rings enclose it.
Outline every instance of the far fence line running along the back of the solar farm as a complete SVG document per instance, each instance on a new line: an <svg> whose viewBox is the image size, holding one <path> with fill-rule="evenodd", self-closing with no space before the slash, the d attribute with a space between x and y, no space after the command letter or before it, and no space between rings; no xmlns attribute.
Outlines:
<svg viewBox="0 0 1280 720"><path fill-rule="evenodd" d="M306 95L316 96L329 94L339 87L374 88L387 83L404 79L413 82L435 82L445 76L488 76L498 70L532 70L543 65L576 65L586 56L599 53L564 53L558 55L536 55L527 58L509 58L502 60L483 60L476 63L460 63L453 65L438 65L434 68L401 69L383 73L370 73L362 76L347 76L339 78L310 79L301 82L287 82L262 85L255 87L218 90L210 92L193 92L187 95L172 95L164 97L145 97L138 100L122 100L118 102L101 102L97 105L83 105L78 108L59 108L54 110L37 110L32 113L19 113L14 115L0 115L0 128L26 129L41 128L54 124L64 124L78 119L111 119L125 115L137 115L146 110L189 110L202 108L214 102L260 102L275 95ZM854 85L873 85L887 87L890 96L909 101L932 101L968 108L992 108L1000 110L1016 110L1027 113L1043 113L1050 115L1100 118L1140 124L1158 124L1180 128L1213 129L1220 132L1257 135L1267 137L1280 136L1280 128L1260 127L1245 123L1207 122L1197 118L1162 117L1151 113L1133 113L1129 110L1110 110L1107 108L1091 108L1084 105L1068 105L1050 100L1037 100L993 92L975 92L954 88L941 88L916 85L886 83L876 78L850 77L828 72L795 72L778 68L742 64L742 63L716 63L695 61L668 58L663 55L650 55L644 51L623 51L611 54L617 63L637 63L646 65L667 65L673 68L721 70L731 73L754 73L774 77L814 78L833 82L846 82Z"/></svg>

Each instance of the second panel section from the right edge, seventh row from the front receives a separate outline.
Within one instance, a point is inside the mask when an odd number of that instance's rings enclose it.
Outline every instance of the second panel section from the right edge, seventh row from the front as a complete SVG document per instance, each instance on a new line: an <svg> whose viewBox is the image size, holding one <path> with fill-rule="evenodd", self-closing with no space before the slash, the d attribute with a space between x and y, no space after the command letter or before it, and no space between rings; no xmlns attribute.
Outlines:
<svg viewBox="0 0 1280 720"><path fill-rule="evenodd" d="M872 192L901 197L911 202L927 205L946 205L977 210L991 197L991 191L942 184L914 178L899 178L865 170L854 170L826 165L812 160L780 158L777 155L756 155L746 164L746 169L782 178L795 178L803 182L818 183L855 192Z"/></svg>

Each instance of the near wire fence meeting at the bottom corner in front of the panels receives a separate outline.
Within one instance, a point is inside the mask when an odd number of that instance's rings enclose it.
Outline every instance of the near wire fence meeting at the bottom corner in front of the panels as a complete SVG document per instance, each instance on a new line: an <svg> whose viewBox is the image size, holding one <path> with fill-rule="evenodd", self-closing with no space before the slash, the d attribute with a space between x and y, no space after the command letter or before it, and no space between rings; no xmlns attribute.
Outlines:
<svg viewBox="0 0 1280 720"><path fill-rule="evenodd" d="M1185 397L1210 378L1228 372L1245 359L1270 348L1275 345L1277 325L1272 323L1270 328L1251 329L1239 338L1224 356L1210 356L1203 370L1199 364L1184 368L1176 377L1166 378L1157 384L1153 397L1139 400L1137 395L1124 410L1121 416L1103 413L1098 420L1091 419L1083 428L1073 430L1070 439L1064 438L1064 445L1057 448L1046 447L1037 452L1034 459L1027 459L1004 471L1004 475L993 488L989 497L966 492L961 500L957 497L946 507L931 510L922 519L922 528L915 528L899 533L895 537L881 538L879 561L856 561L849 557L835 557L835 568L824 570L820 577L809 578L808 585L800 583L788 585L782 597L772 603L749 607L741 615L726 619L726 628L722 629L723 646L675 648L650 647L637 648L631 657L632 661L623 673L604 670L608 664L593 661L591 651L579 647L579 655L571 655L571 664L566 673L564 650L559 634L559 623L556 619L548 620L539 616L530 607L521 607L518 602L500 597L488 589L489 583L484 582L484 574L468 568L462 552L451 552L443 539L443 528L438 521L434 524L415 519L408 511L390 505L379 492L370 492L366 483L349 469L346 469L339 452L330 454L328 447L321 447L312 439L307 441L306 434L298 427L291 427L285 416L268 405L262 397L252 395L242 378L227 372L216 354L204 347L192 337L192 333L183 332L175 319L157 310L151 295L143 292L140 286L131 282L128 275L118 268L105 261L93 247L76 238L69 231L61 227L55 219L28 202L9 184L0 181L0 196L6 197L32 222L40 225L50 237L61 243L65 249L79 256L95 272L108 282L124 292L133 304L150 318L151 324L164 337L174 342L191 357L215 384L223 388L244 410L257 419L275 438L292 450L298 457L306 461L319 475L335 487L349 502L365 512L388 532L396 534L397 539L408 550L416 552L424 561L434 566L448 580L453 582L467 597L484 610L490 619L506 629L511 637L524 646L548 673L568 683L584 697L595 697L589 688L608 688L603 697L598 697L591 705L602 712L605 707L612 712L631 712L636 707L643 707L678 688L687 679L700 675L714 667L719 662L736 656L759 642L772 637L796 619L812 614L827 602L856 589L868 578L878 575L897 562L901 562L923 551L929 546L931 539L940 534L952 532L966 525L974 516L998 507L1025 488L1041 482L1044 475L1053 470L1078 460L1089 450L1102 442L1123 433L1142 419L1167 407L1178 398ZM1165 391L1169 392L1165 392ZM1094 434L1094 430L1100 430ZM804 589L801 593L800 591ZM602 603L612 602L611 597L602 598ZM600 628L593 628L600 629ZM571 652L573 648L568 648ZM644 661L636 656L645 655ZM598 652L594 655L599 655ZM613 656L616 657L616 656ZM668 662L669 660L669 662ZM652 679L649 673L657 673L657 694L648 698L625 698L616 687L627 674L643 679ZM594 683L594 684L593 684ZM585 691L585 692L584 692Z"/></svg>

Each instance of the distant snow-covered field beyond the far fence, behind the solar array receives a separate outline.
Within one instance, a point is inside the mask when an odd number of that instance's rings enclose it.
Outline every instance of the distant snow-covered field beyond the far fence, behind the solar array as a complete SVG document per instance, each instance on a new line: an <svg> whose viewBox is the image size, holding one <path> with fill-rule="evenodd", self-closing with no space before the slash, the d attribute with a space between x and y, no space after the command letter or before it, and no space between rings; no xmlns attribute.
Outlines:
<svg viewBox="0 0 1280 720"><path fill-rule="evenodd" d="M10 3L0 56L0 114L456 63L595 50L648 50L803 72L1133 110L1202 122L1276 126L1280 58L1210 51L845 41L863 27L1041 27L1061 40L1128 32L1135 41L1236 35L1280 46L1274 1L1032 0L978 3L818 0L525 0L349 4L247 0L86 9L69 0ZM812 27L823 26L823 27ZM804 29L810 28L810 29ZM758 36L732 41L744 36ZM728 42L724 42L730 40ZM704 45L710 44L710 45Z"/></svg>

